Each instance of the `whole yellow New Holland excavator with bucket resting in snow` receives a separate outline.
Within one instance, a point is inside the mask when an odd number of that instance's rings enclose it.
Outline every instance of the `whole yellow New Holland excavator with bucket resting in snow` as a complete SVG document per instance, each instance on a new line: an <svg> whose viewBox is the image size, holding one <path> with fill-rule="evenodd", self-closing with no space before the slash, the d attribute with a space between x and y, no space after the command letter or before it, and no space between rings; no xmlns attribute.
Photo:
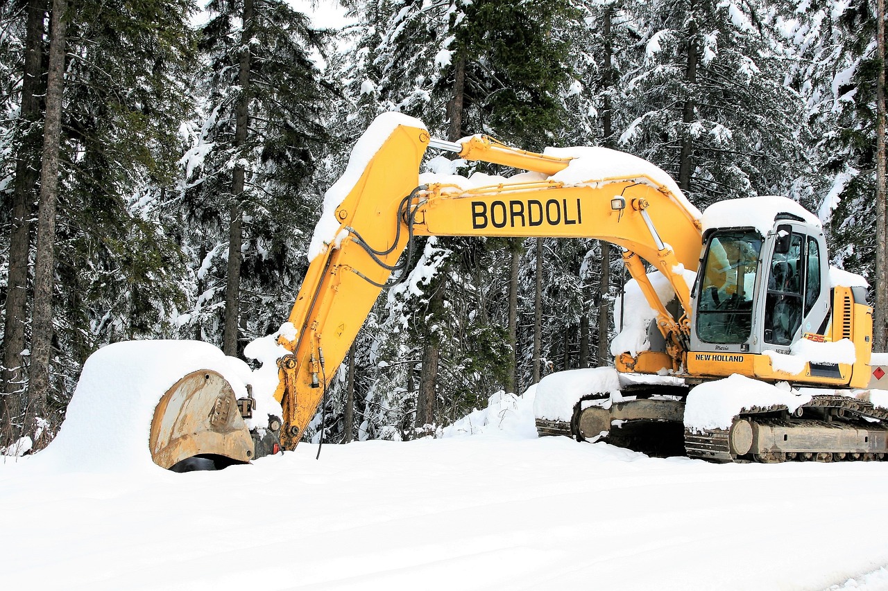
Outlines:
<svg viewBox="0 0 888 591"><path fill-rule="evenodd" d="M430 149L527 172L490 185L421 184ZM411 259L416 236L591 238L622 248L654 319L646 350L619 351L614 365L653 379L607 404L600 404L607 393L589 392L570 416L538 417L542 435L620 443L622 433L633 439L666 427L657 437L678 435L678 453L715 462L888 457L888 409L852 394L883 371L870 365L866 288L831 282L821 225L795 201L755 197L701 214L667 173L630 154L600 147L535 154L486 136L448 142L389 113L361 137L325 197L289 328L277 337L287 351L277 359L274 391L282 416L250 432L242 417L251 397L235 398L214 372L188 374L155 409L155 463L246 462L294 449L377 296ZM844 352L798 359L802 342ZM730 425L686 429L689 392L733 374L805 389L807 402L741 405ZM664 385L662 376L680 383Z"/></svg>

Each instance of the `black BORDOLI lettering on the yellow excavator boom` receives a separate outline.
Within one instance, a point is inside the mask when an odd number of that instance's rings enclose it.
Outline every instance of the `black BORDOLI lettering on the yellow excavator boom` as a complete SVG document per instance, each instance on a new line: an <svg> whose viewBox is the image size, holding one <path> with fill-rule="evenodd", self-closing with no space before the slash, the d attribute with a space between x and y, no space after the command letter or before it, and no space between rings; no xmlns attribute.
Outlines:
<svg viewBox="0 0 888 591"><path fill-rule="evenodd" d="M575 225L583 224L583 209L580 200L576 200L576 208L567 205L567 199L550 199L543 203L531 199L527 201L510 200L472 201L472 228L483 229L488 225L495 228L524 228L543 225Z"/></svg>

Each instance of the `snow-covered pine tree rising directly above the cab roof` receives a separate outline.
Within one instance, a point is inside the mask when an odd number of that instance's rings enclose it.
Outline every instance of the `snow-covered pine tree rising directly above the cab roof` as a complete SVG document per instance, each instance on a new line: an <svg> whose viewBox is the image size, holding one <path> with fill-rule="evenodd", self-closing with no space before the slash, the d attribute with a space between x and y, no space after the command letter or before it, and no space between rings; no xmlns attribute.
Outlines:
<svg viewBox="0 0 888 591"><path fill-rule="evenodd" d="M794 195L805 175L804 104L789 88L772 7L664 0L638 14L635 120L620 141L659 164L701 209L754 194Z"/></svg>

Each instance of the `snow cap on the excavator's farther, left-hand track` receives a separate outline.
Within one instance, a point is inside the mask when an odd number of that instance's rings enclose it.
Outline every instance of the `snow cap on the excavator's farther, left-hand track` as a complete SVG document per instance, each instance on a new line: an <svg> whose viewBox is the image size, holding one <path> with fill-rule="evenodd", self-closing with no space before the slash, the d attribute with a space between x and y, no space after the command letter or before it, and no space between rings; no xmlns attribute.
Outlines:
<svg viewBox="0 0 888 591"><path fill-rule="evenodd" d="M596 392L620 396L620 375L613 367L571 369L549 374L536 385L535 417L570 421L577 400Z"/></svg>

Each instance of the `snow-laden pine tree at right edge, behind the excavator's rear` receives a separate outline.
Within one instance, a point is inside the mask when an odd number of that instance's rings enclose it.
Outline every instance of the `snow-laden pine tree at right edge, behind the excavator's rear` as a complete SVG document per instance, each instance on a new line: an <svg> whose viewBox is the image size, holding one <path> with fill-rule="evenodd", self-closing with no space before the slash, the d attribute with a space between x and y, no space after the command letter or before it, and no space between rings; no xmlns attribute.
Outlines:
<svg viewBox="0 0 888 591"><path fill-rule="evenodd" d="M813 179L830 261L876 279L875 3L798 4L783 28L799 54L794 72L813 122L820 177ZM884 238L883 238L884 240ZM871 293L884 292L872 286Z"/></svg>

